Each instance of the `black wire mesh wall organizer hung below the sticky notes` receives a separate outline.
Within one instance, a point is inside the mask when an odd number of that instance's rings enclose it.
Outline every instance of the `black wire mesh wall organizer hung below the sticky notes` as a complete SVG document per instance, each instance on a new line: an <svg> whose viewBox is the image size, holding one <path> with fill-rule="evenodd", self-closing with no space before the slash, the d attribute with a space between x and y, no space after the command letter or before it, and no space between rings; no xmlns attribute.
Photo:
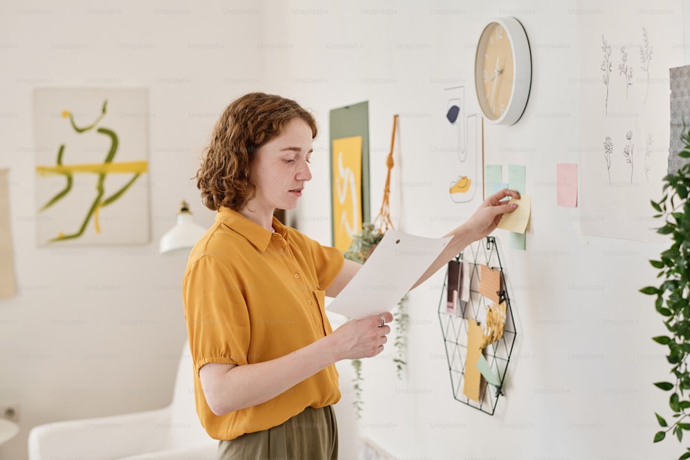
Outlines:
<svg viewBox="0 0 690 460"><path fill-rule="evenodd" d="M477 410L493 415L496 410L498 398L504 396L503 387L506 379L506 370L513 352L515 344L515 321L511 309L511 300L504 277L504 270L498 254L498 248L494 237L487 237L465 248L463 252L455 257L455 261L469 263L469 300L455 301L453 290L457 274L451 272L451 264L446 272L446 280L442 290L442 296L438 308L438 318L441 323L441 330L446 346L446 357L448 358L449 372L451 374L451 385L453 386L453 397L462 403L467 404ZM498 270L500 274L500 290L496 292L500 302L506 304L506 321L502 337L488 346L482 353L488 363L491 373L495 377L495 382L490 383L481 377L479 397L475 401L464 393L466 359L468 354L469 321L474 320L484 326L486 313L489 306L493 303L480 292L481 266L488 266L491 273ZM451 289L449 289L449 279ZM465 278L466 279L466 278ZM486 293L486 292L485 292ZM455 294L457 297L457 293ZM453 304L453 308L451 308ZM455 307L457 305L457 307ZM474 366L474 365L473 365ZM497 381L497 384L495 384Z"/></svg>

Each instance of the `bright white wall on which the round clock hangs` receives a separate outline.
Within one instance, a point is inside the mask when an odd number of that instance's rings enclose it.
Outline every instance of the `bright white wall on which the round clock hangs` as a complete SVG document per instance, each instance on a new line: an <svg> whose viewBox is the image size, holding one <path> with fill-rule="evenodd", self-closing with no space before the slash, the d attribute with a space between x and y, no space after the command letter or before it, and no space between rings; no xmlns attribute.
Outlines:
<svg viewBox="0 0 690 460"><path fill-rule="evenodd" d="M546 0L311 1L272 3L265 11L266 41L287 50L267 56L269 90L313 108L322 128L300 228L326 241L328 111L369 101L374 213L392 117L400 114L393 195L402 210L394 217L401 230L441 236L478 202L453 204L446 193L457 160L433 149L440 92L459 85L473 91L475 43L486 19L515 16L529 35L526 112L517 125L485 125L484 133L485 162L526 166L533 195L526 251L509 248L506 232L495 232L518 334L506 397L493 417L453 399L437 319L439 272L410 296L406 377L396 379L389 350L367 361L364 418L347 421L398 458L646 460L682 453L674 441L652 443L653 412L667 408L652 382L668 366L664 348L651 341L664 329L653 301L637 292L653 283L647 260L663 246L586 237L580 209L555 203L555 164L578 162L578 84L570 78L578 75L576 12L575 2ZM448 221L454 217L457 223ZM340 369L346 390L352 372Z"/></svg>

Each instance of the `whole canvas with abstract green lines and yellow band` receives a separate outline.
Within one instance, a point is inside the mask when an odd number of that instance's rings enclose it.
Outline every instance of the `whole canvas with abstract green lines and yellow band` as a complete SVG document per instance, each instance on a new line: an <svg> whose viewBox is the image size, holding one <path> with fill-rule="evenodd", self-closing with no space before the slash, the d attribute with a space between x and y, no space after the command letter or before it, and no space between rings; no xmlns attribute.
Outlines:
<svg viewBox="0 0 690 460"><path fill-rule="evenodd" d="M150 241L145 89L34 90L40 246Z"/></svg>

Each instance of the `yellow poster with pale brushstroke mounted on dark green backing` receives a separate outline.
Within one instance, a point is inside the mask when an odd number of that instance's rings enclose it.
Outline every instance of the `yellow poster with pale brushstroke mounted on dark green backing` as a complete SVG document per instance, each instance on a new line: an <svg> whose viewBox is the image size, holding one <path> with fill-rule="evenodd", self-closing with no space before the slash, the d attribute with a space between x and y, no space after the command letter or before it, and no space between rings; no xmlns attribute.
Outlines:
<svg viewBox="0 0 690 460"><path fill-rule="evenodd" d="M347 250L362 229L362 136L333 139L333 246Z"/></svg>

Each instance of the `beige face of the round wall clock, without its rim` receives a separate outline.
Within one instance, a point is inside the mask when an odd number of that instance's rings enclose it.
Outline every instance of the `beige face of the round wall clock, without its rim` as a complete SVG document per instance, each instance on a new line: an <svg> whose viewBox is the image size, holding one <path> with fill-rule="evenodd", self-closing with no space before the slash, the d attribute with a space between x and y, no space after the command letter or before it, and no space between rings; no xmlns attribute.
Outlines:
<svg viewBox="0 0 690 460"><path fill-rule="evenodd" d="M484 116L500 119L513 94L515 66L511 39L500 23L489 23L477 44L475 88Z"/></svg>

